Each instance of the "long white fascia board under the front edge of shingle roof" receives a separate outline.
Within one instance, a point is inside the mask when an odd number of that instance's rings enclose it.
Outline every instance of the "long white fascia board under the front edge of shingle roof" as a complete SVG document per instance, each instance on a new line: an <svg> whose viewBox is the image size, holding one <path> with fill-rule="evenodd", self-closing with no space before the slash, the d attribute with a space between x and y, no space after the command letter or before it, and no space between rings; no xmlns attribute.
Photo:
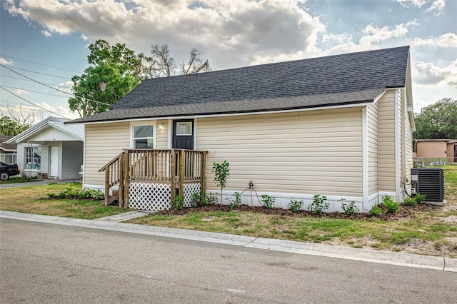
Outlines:
<svg viewBox="0 0 457 304"><path fill-rule="evenodd" d="M317 110L326 110L333 108L359 108L363 106L368 106L373 104L372 101L366 103L353 103L350 105L341 105L341 106L319 106L316 108L299 108L292 110L280 110L280 111L261 111L261 112L242 112L242 113L226 113L226 114L211 114L211 115L189 115L189 116L165 116L165 117L150 117L150 118L129 118L129 119L119 119L114 121L92 121L84 123L85 125L99 124L99 123L124 123L130 121L159 121L159 120L173 120L173 119L195 119L195 118L214 118L214 117L229 117L229 116L246 116L246 115L261 115L261 114L272 114L272 113L291 113L291 112L302 112L302 111L317 111Z"/></svg>

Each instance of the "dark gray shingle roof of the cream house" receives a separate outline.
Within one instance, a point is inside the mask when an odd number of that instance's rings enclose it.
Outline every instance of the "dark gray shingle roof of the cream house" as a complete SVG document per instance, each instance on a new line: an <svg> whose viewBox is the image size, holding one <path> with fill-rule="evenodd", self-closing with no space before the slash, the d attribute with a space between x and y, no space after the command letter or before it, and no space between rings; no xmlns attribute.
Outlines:
<svg viewBox="0 0 457 304"><path fill-rule="evenodd" d="M146 79L110 111L71 123L214 115L373 101L406 84L409 46Z"/></svg>

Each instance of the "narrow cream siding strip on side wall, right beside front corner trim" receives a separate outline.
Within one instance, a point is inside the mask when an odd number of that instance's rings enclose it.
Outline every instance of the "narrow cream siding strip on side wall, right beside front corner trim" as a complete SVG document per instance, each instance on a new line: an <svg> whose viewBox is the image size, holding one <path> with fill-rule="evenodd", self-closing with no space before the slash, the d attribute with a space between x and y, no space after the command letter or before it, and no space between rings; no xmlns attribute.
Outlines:
<svg viewBox="0 0 457 304"><path fill-rule="evenodd" d="M368 195L378 192L378 103L366 107L368 141Z"/></svg>

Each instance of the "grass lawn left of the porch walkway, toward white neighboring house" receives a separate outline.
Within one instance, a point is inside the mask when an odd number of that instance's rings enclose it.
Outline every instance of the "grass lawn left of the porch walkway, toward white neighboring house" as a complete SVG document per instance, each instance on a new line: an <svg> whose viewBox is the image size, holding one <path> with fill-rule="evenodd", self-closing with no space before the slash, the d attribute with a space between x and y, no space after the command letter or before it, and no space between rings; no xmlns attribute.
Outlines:
<svg viewBox="0 0 457 304"><path fill-rule="evenodd" d="M45 216L94 219L113 216L126 210L111 206L100 206L99 201L76 199L49 199L49 193L60 193L65 184L26 186L0 189L0 209ZM81 187L81 183L76 183Z"/></svg>

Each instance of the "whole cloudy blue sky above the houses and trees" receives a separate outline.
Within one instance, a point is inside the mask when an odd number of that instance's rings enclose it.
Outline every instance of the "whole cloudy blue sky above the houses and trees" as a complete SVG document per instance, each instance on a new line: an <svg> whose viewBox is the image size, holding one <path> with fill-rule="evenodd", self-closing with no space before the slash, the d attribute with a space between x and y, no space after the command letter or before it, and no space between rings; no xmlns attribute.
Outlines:
<svg viewBox="0 0 457 304"><path fill-rule="evenodd" d="M0 2L4 114L77 118L65 92L97 39L146 55L169 44L177 62L196 48L213 70L409 45L414 110L457 98L456 0Z"/></svg>

